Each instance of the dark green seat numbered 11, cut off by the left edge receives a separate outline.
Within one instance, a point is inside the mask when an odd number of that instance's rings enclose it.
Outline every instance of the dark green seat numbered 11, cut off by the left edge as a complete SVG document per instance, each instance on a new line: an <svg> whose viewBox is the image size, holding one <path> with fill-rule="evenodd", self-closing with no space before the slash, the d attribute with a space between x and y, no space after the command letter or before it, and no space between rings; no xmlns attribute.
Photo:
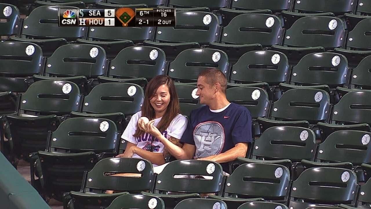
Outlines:
<svg viewBox="0 0 371 209"><path fill-rule="evenodd" d="M0 23L1 25L1 23ZM25 92L43 71L43 52L30 42L0 42L0 91Z"/></svg>

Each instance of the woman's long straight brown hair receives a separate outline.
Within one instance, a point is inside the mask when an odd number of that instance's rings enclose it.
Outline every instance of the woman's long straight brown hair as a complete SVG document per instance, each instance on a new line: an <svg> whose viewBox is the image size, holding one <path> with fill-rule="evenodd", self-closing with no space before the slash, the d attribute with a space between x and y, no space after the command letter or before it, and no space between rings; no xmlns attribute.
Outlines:
<svg viewBox="0 0 371 209"><path fill-rule="evenodd" d="M155 118L155 110L153 109L150 100L156 93L158 87L163 84L166 84L169 88L170 102L165 110L166 112L164 116L162 116L160 122L157 124L157 128L161 133L164 132L167 127L169 127L171 121L180 113L178 94L175 90L173 80L171 80L171 78L167 75L157 75L156 77L152 78L150 82L148 82L147 88L145 89L144 102L141 108L142 117L147 117L150 120L153 120ZM135 134L133 136L139 137L144 133L144 131L138 128L137 123L137 130L135 131Z"/></svg>

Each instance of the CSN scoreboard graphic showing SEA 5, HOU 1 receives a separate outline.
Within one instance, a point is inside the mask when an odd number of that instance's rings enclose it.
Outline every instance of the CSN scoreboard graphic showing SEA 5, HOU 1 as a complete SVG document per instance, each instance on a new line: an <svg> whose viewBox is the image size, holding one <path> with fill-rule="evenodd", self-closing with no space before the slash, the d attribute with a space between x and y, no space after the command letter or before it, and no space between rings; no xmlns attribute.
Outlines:
<svg viewBox="0 0 371 209"><path fill-rule="evenodd" d="M59 9L59 26L174 27L174 8Z"/></svg>

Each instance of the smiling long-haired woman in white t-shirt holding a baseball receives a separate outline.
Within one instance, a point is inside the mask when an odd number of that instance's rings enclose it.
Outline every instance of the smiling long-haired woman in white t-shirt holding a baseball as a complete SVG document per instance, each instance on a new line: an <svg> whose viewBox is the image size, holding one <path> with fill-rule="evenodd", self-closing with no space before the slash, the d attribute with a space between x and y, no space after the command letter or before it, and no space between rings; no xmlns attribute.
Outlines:
<svg viewBox="0 0 371 209"><path fill-rule="evenodd" d="M144 124L140 117L147 117L150 122ZM164 137L178 146L187 127L187 118L180 114L178 94L174 82L166 75L151 79L145 90L141 111L135 113L122 134L127 141L123 154L116 157L139 157L152 162L155 166L165 163L170 157L160 138Z"/></svg>

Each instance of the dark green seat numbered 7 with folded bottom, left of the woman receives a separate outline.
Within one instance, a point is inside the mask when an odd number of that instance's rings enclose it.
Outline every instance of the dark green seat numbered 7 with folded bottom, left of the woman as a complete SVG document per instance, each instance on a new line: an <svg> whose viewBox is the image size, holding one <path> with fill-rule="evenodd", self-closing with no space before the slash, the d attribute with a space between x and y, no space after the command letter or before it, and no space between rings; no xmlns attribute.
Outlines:
<svg viewBox="0 0 371 209"><path fill-rule="evenodd" d="M70 118L49 134L46 151L32 157L33 173L38 173L42 193L62 201L62 195L79 190L85 170L90 170L99 158L118 153L118 132L113 121L103 118ZM40 164L37 166L37 164ZM41 168L41 170L40 170Z"/></svg>

